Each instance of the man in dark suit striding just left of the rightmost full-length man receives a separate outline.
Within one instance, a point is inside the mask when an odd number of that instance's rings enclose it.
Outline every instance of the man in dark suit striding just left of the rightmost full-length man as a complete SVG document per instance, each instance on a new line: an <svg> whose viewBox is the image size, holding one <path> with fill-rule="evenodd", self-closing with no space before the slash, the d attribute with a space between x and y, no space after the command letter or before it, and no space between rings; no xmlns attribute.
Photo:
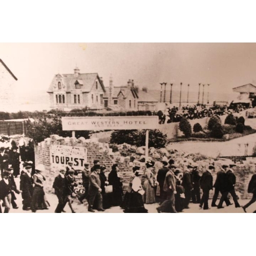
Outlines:
<svg viewBox="0 0 256 256"><path fill-rule="evenodd" d="M223 188L223 184L225 183L227 168L228 168L228 165L223 164L222 168L217 173L217 178L216 178L216 181L214 183L215 191L214 191L214 197L212 198L212 201L211 201L211 207L217 207L216 201L218 199L219 193L221 193L221 195L223 194L222 188ZM231 203L230 203L230 201L227 197L224 198L224 201L225 201L227 206L231 205Z"/></svg>

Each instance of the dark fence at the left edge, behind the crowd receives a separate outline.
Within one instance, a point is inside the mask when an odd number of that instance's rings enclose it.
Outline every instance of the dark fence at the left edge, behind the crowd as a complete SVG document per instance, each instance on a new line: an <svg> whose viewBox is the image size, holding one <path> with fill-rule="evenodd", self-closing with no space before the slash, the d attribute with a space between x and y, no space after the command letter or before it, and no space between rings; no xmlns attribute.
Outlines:
<svg viewBox="0 0 256 256"><path fill-rule="evenodd" d="M26 121L0 121L0 134L3 135L22 135L27 134Z"/></svg>

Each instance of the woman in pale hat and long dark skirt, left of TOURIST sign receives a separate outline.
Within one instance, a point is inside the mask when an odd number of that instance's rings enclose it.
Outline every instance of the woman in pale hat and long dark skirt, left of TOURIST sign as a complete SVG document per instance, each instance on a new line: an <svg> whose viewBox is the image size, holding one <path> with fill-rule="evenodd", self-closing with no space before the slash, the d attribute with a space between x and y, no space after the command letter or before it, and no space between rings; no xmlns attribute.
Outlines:
<svg viewBox="0 0 256 256"><path fill-rule="evenodd" d="M36 210L44 210L48 209L50 206L49 202L46 200L45 191L44 191L44 181L46 178L42 176L42 172L44 172L45 167L42 164L36 166L36 173L33 175L33 195L31 202L31 210L36 212Z"/></svg>

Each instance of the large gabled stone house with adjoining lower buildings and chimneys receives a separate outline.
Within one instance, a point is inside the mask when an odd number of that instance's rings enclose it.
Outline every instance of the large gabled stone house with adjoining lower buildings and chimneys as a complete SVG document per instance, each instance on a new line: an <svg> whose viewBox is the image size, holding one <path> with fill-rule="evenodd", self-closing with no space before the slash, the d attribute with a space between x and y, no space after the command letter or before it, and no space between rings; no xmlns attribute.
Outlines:
<svg viewBox="0 0 256 256"><path fill-rule="evenodd" d="M158 100L146 91L139 91L129 79L126 86L114 87L110 77L109 87L104 87L98 73L81 74L78 68L73 74L57 74L47 91L51 109L70 111L90 110L157 110Z"/></svg>

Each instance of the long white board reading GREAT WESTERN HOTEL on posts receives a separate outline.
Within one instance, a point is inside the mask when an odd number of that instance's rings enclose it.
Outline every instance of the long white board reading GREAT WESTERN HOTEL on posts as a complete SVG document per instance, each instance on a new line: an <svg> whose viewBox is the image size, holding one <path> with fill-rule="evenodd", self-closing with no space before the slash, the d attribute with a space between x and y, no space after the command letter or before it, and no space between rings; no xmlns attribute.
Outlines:
<svg viewBox="0 0 256 256"><path fill-rule="evenodd" d="M158 129L158 116L62 117L63 131Z"/></svg>

